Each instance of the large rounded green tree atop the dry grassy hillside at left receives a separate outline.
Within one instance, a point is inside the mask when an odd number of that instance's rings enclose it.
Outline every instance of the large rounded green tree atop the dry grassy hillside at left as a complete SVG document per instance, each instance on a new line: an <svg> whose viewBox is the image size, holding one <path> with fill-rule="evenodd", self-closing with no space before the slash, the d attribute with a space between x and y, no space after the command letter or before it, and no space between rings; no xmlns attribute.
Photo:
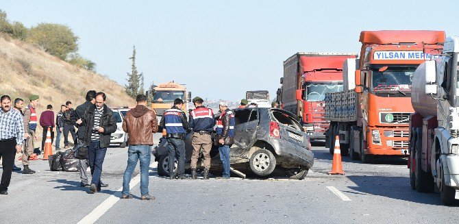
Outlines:
<svg viewBox="0 0 459 224"><path fill-rule="evenodd" d="M78 37L70 27L62 24L40 23L30 29L27 41L40 45L61 60L78 51Z"/></svg>

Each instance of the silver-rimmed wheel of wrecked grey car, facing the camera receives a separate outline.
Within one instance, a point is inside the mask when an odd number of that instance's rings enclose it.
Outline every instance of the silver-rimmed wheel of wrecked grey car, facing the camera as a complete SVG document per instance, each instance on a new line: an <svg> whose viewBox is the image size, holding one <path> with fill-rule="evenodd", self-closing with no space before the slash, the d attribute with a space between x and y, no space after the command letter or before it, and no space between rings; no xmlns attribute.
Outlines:
<svg viewBox="0 0 459 224"><path fill-rule="evenodd" d="M249 164L253 173L265 177L273 173L276 160L271 151L267 149L258 149L251 155Z"/></svg>

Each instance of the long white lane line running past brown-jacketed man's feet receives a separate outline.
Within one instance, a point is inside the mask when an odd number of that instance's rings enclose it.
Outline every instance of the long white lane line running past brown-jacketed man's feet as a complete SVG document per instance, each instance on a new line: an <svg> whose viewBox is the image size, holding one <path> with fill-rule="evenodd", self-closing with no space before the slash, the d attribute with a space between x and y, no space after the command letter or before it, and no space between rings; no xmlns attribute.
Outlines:
<svg viewBox="0 0 459 224"><path fill-rule="evenodd" d="M153 166L156 162L152 162L149 166ZM140 182L140 173L136 175L134 178L131 179L131 182L129 183L129 190L134 188L138 183ZM121 192L123 190L123 187L119 188L114 192L116 194L117 192ZM120 200L119 197L116 197L114 195L110 195L108 199L103 201L99 206L97 206L92 212L90 212L88 215L84 216L82 220L78 222L78 224L86 224L86 223L95 223L97 219L99 219L103 214L105 214L110 208L114 206L116 202Z"/></svg>

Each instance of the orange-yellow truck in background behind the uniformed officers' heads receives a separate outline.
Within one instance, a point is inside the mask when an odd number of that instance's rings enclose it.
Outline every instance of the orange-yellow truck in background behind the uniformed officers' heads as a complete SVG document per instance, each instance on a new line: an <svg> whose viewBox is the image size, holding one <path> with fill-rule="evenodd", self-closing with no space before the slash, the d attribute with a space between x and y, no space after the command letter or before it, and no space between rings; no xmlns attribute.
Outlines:
<svg viewBox="0 0 459 224"><path fill-rule="evenodd" d="M188 111L188 102L191 99L191 92L186 92L186 86L177 84L174 81L158 84L153 88L153 99L151 109L156 110L158 119L174 105L174 99L180 98L184 101L182 110Z"/></svg>

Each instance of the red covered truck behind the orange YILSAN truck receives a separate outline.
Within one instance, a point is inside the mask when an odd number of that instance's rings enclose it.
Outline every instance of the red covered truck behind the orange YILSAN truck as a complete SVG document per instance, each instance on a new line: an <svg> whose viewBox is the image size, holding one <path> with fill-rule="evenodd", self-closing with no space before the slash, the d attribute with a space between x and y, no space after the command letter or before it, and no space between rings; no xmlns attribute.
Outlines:
<svg viewBox="0 0 459 224"><path fill-rule="evenodd" d="M355 53L295 53L284 62L280 105L301 119L311 140L324 140L325 93L343 90L343 61Z"/></svg>

